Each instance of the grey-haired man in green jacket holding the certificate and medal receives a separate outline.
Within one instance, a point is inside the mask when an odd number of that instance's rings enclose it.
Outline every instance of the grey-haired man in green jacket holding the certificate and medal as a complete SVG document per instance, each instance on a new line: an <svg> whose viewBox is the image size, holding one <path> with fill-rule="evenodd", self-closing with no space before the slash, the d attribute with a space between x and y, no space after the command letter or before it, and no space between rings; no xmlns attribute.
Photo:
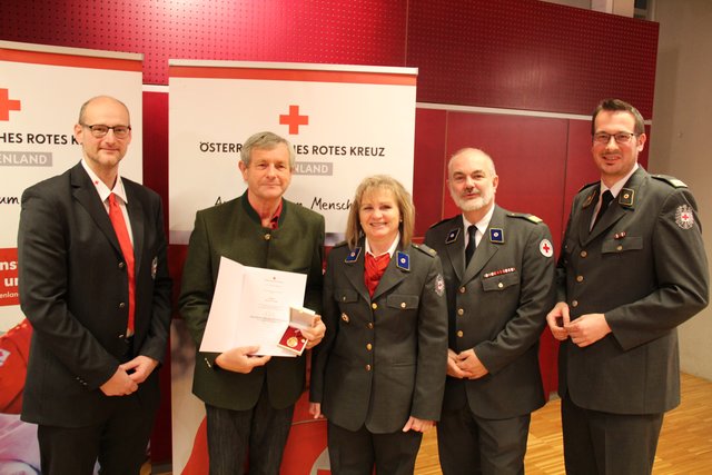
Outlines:
<svg viewBox="0 0 712 475"><path fill-rule="evenodd" d="M190 236L179 298L200 348L217 284L220 257L243 265L307 275L304 306L322 308L324 217L283 198L291 181L295 151L284 138L259 132L243 145L239 168L247 191L198 211ZM301 331L307 348L324 324ZM305 385L306 354L254 356L257 346L196 355L192 392L206 404L211 474L279 473L294 404Z"/></svg>

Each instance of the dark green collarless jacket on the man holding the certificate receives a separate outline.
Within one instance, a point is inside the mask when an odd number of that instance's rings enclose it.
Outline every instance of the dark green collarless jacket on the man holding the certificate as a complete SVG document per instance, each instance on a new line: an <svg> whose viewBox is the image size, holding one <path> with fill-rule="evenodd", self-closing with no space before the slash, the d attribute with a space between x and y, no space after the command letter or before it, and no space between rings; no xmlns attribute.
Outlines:
<svg viewBox="0 0 712 475"><path fill-rule="evenodd" d="M324 217L283 199L277 229L261 226L257 212L241 197L196 214L182 271L180 315L197 348L208 321L220 257L245 266L307 275L304 306L320 313ZM246 410L257 404L263 384L275 408L294 404L305 385L306 354L297 358L273 357L249 374L220 369L218 354L197 354L192 392L211 406Z"/></svg>

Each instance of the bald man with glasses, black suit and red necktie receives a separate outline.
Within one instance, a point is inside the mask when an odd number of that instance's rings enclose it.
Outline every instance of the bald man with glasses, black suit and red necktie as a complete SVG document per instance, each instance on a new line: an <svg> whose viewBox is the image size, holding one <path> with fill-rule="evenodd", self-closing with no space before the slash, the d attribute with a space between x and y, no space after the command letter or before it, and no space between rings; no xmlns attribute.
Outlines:
<svg viewBox="0 0 712 475"><path fill-rule="evenodd" d="M97 458L103 474L137 474L170 323L161 202L119 175L122 102L88 100L75 138L81 162L22 195L20 305L34 329L22 419L39 425L44 474L91 474Z"/></svg>

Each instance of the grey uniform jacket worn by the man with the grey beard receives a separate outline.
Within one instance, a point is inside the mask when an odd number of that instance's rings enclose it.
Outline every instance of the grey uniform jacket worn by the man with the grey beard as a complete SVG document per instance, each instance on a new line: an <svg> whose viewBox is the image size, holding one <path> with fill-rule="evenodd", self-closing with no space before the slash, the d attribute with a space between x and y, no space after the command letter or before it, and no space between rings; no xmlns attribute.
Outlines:
<svg viewBox="0 0 712 475"><path fill-rule="evenodd" d="M548 227L495 206L467 268L465 232L457 215L428 229L425 243L443 261L449 347L455 353L473 348L490 374L448 377L445 407L468 404L483 418L528 414L544 405L538 338L555 295Z"/></svg>

